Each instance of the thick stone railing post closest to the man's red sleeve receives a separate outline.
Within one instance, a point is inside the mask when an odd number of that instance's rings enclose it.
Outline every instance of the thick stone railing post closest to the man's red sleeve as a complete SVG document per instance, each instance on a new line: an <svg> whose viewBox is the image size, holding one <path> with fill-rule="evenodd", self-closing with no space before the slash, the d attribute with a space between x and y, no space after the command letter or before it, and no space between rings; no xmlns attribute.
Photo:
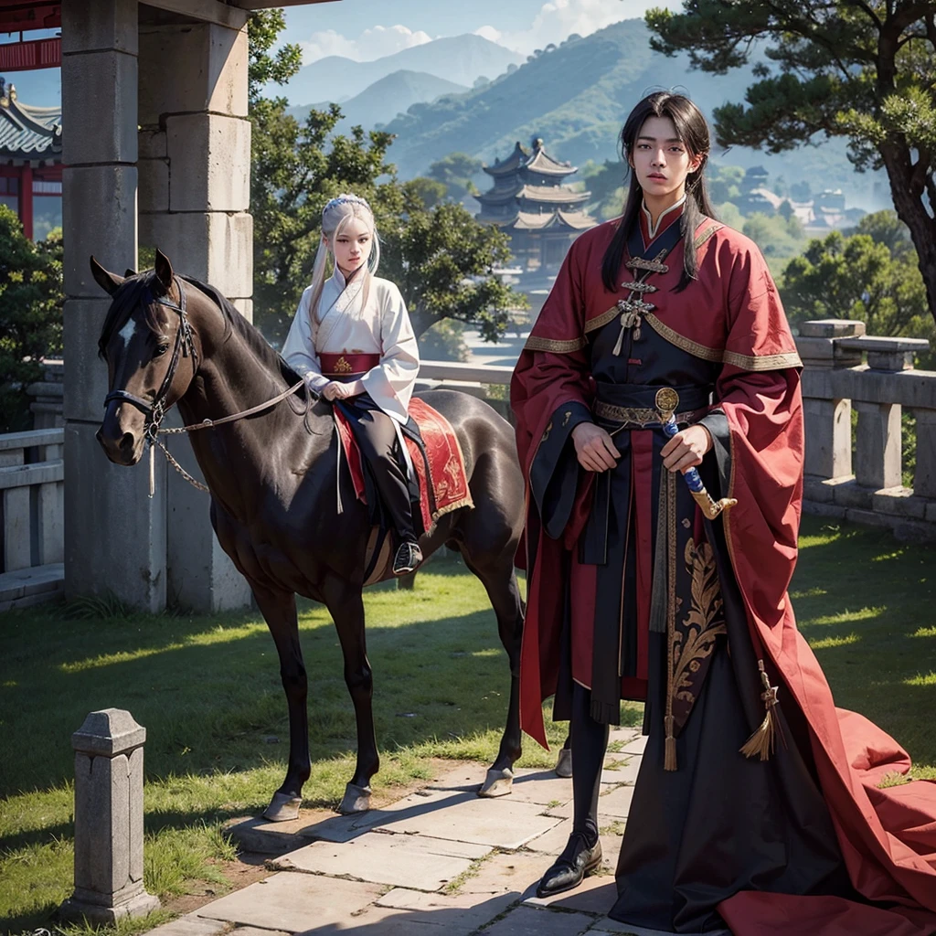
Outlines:
<svg viewBox="0 0 936 936"><path fill-rule="evenodd" d="M831 502L835 488L852 476L852 402L836 398L829 378L832 371L861 363L861 355L847 352L841 339L864 330L864 322L846 319L804 322L799 328L806 424L804 492L811 501Z"/></svg>

